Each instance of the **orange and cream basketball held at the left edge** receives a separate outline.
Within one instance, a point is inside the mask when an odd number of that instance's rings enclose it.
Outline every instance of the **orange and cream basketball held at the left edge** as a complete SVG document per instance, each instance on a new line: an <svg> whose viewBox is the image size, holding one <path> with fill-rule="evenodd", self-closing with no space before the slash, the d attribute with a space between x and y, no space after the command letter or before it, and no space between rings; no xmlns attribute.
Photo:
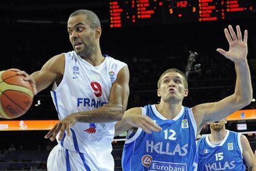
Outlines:
<svg viewBox="0 0 256 171"><path fill-rule="evenodd" d="M32 85L23 75L10 70L0 72L0 117L14 119L28 111L33 102Z"/></svg>

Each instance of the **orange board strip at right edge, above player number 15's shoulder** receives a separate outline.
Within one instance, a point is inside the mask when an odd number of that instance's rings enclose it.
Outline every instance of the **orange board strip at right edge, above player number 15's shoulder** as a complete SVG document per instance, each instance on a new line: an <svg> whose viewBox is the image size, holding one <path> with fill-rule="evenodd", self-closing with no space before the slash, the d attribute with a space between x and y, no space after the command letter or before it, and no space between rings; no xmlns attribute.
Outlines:
<svg viewBox="0 0 256 171"><path fill-rule="evenodd" d="M236 111L228 116L228 120L249 120L256 119L256 109Z"/></svg>

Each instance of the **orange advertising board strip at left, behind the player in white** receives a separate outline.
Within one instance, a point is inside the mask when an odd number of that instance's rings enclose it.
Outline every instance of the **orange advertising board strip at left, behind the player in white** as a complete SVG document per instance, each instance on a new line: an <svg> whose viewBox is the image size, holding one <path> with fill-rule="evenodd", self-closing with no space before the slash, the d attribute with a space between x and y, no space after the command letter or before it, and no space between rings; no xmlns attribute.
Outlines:
<svg viewBox="0 0 256 171"><path fill-rule="evenodd" d="M0 131L51 130L59 120L0 120Z"/></svg>

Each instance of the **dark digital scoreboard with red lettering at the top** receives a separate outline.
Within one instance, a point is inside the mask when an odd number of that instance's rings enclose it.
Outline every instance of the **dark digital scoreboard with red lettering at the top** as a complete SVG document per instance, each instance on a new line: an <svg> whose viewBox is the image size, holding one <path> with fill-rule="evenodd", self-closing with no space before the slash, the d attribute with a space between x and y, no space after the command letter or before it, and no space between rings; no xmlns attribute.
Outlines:
<svg viewBox="0 0 256 171"><path fill-rule="evenodd" d="M110 0L110 27L250 17L256 0Z"/></svg>

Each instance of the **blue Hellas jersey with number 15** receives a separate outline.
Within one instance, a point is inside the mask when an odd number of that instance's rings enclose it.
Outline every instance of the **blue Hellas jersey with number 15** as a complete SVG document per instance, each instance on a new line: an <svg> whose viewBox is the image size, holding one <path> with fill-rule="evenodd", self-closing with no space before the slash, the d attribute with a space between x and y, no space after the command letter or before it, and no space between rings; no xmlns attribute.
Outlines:
<svg viewBox="0 0 256 171"><path fill-rule="evenodd" d="M227 130L221 144L211 144L208 136L198 140L198 170L245 170L240 137Z"/></svg>

